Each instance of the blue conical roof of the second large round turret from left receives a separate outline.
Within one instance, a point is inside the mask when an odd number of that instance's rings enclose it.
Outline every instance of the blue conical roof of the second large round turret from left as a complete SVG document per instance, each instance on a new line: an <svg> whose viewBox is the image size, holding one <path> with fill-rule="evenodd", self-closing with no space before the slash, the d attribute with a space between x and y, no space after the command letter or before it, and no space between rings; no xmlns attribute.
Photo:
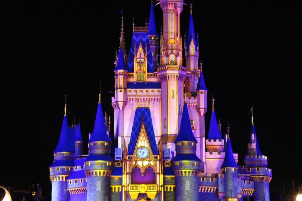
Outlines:
<svg viewBox="0 0 302 201"><path fill-rule="evenodd" d="M88 142L95 142L95 141L111 142L111 140L108 137L107 130L105 127L104 115L103 115L101 103L98 103L98 109L97 109L96 117L95 117L95 126L93 128L91 137L88 140Z"/></svg>

